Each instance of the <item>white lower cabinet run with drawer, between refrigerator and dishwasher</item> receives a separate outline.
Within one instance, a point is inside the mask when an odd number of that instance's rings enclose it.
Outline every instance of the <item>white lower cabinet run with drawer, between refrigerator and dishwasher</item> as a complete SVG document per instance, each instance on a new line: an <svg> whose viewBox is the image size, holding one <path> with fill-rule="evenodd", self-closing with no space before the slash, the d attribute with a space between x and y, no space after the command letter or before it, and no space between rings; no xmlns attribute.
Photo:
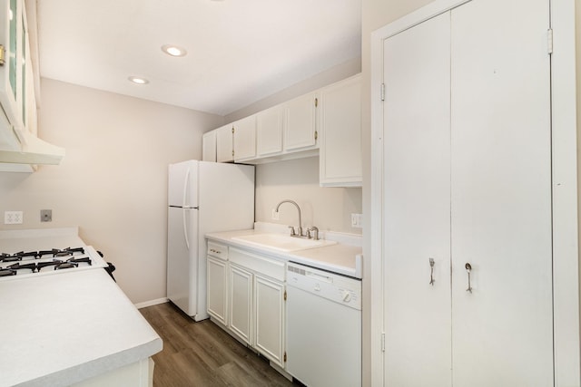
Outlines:
<svg viewBox="0 0 581 387"><path fill-rule="evenodd" d="M282 369L285 267L282 260L208 243L208 314Z"/></svg>

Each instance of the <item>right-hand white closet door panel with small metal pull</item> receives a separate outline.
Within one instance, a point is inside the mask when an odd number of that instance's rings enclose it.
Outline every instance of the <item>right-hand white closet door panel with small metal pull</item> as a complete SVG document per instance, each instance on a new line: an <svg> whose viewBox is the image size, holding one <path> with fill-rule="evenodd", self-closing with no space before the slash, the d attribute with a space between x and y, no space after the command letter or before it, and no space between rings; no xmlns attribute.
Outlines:
<svg viewBox="0 0 581 387"><path fill-rule="evenodd" d="M452 11L455 387L553 385L548 9Z"/></svg>

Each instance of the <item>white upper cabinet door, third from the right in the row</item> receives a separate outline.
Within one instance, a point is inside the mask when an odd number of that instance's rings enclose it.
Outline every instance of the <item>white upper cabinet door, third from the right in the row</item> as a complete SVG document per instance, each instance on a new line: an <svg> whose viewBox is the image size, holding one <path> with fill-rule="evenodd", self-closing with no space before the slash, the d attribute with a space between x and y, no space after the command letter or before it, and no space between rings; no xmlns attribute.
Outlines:
<svg viewBox="0 0 581 387"><path fill-rule="evenodd" d="M261 111L256 116L256 154L259 157L282 152L282 106Z"/></svg>

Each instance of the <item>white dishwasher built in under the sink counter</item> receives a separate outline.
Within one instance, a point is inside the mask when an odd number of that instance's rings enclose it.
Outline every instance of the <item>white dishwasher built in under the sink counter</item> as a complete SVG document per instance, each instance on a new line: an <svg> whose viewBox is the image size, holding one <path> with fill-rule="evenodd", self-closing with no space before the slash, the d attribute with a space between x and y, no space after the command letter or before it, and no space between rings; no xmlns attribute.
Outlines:
<svg viewBox="0 0 581 387"><path fill-rule="evenodd" d="M287 264L287 368L309 387L361 385L361 281Z"/></svg>

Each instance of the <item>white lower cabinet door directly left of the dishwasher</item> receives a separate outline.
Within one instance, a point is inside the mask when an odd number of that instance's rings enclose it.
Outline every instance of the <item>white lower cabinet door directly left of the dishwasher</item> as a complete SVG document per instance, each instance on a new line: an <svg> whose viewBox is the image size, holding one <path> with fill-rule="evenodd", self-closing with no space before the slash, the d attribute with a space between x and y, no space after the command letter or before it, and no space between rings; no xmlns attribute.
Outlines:
<svg viewBox="0 0 581 387"><path fill-rule="evenodd" d="M260 275L254 277L256 348L284 367L284 285Z"/></svg>

